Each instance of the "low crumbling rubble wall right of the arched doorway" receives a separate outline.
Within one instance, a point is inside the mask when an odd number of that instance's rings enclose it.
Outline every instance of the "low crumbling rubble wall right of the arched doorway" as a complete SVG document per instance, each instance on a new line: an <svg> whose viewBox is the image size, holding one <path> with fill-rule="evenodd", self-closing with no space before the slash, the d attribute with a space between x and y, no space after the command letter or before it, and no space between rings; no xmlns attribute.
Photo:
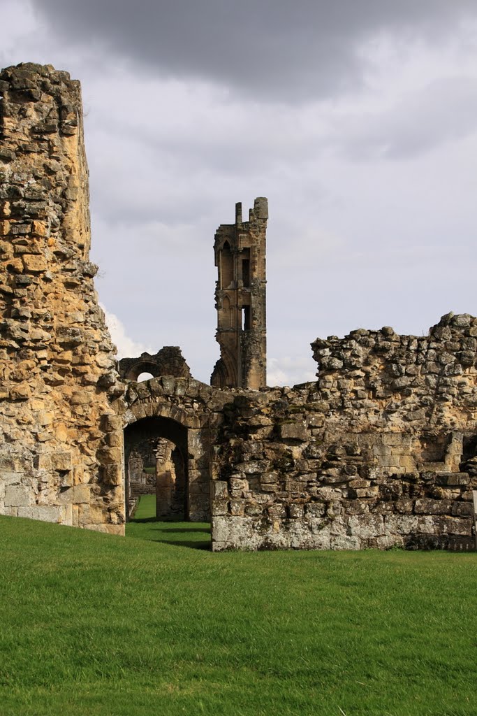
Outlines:
<svg viewBox="0 0 477 716"><path fill-rule="evenodd" d="M236 395L212 483L212 546L473 548L477 319L428 337L313 344L318 382Z"/></svg>

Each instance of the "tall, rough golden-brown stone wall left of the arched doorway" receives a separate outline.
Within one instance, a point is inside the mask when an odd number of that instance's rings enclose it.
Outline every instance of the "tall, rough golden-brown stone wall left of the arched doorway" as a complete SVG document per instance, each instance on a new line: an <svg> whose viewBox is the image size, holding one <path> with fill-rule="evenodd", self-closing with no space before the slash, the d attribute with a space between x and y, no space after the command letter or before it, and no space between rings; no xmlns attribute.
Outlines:
<svg viewBox="0 0 477 716"><path fill-rule="evenodd" d="M122 392L89 262L79 82L0 73L0 513L124 531Z"/></svg>

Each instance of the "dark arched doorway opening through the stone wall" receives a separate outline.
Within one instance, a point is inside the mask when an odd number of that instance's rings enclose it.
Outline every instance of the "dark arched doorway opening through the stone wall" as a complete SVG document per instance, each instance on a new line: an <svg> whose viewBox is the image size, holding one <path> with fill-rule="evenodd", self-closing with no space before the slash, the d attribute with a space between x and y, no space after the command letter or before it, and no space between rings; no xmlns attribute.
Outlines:
<svg viewBox="0 0 477 716"><path fill-rule="evenodd" d="M156 495L156 516L190 519L187 427L145 417L124 429L127 515L141 494Z"/></svg>

